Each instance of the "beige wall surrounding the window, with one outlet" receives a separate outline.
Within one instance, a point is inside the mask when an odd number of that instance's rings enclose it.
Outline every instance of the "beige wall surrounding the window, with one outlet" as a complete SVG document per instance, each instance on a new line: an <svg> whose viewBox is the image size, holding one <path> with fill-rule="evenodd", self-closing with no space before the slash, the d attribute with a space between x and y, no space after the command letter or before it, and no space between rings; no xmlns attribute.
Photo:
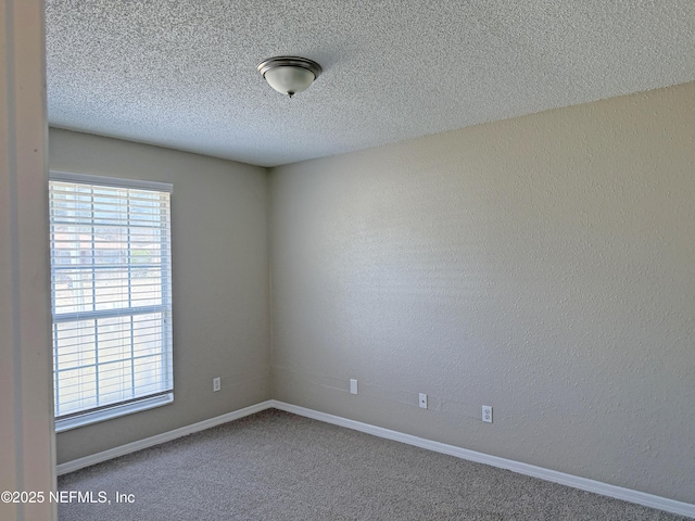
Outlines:
<svg viewBox="0 0 695 521"><path fill-rule="evenodd" d="M59 463L268 399L266 170L60 129L49 151L51 169L174 185L174 404L60 433Z"/></svg>

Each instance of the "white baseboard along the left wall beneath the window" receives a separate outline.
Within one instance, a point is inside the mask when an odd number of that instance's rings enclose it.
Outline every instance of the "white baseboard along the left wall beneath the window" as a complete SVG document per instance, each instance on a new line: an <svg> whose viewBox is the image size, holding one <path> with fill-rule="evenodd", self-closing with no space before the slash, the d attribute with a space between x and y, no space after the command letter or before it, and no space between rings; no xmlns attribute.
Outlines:
<svg viewBox="0 0 695 521"><path fill-rule="evenodd" d="M109 450L104 450L102 453L92 454L90 456L85 456L84 458L78 458L65 463L61 463L56 466L55 473L58 475L62 475L68 472L74 472L91 465L101 463L102 461L117 458L118 456L125 456L126 454L142 450L143 448L160 445L161 443L170 442L172 440L176 440L177 437L182 437L194 432L204 431L205 429L220 425L222 423L227 423L228 421L238 420L239 418L243 418L244 416L254 415L271 407L273 401L261 402L260 404L244 407L243 409L235 410L232 412L227 412L226 415L216 416L215 418L199 421L198 423L193 423L191 425L181 427L180 429L163 432L162 434L157 434L155 436L146 437L144 440L127 443L125 445L121 445L119 447L110 448Z"/></svg>

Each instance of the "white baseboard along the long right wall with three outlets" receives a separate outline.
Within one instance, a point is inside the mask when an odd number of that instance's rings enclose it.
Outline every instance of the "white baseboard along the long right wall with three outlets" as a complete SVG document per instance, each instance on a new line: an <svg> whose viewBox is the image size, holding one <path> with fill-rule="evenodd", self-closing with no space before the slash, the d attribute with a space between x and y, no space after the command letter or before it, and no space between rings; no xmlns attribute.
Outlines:
<svg viewBox="0 0 695 521"><path fill-rule="evenodd" d="M396 442L406 443L408 445L415 445L416 447L427 448L429 450L434 450L435 453L447 454L450 456L467 459L469 461L476 461L478 463L484 463L492 467L498 467L501 469L511 470L513 472L517 472L519 474L539 478L541 480L551 481L553 483L559 483L560 485L571 486L581 491L593 492L595 494L614 497L616 499L622 499L624 501L635 503L645 507L656 508L659 510L665 510L667 512L695 518L695 505L691 505L690 503L677 501L674 499L668 499L666 497L655 496L653 494L646 494L644 492L633 491L631 488L609 485L608 483L590 480L587 478L580 478L572 474L566 474L565 472L558 472L556 470L535 467L534 465L522 463L520 461L500 458L497 456L490 456L489 454L477 453L476 450L468 450L467 448L456 447L454 445L447 445L440 442L433 442L424 437L404 434L402 432L383 429L381 427L363 423L361 421L349 420L340 416L319 412L317 410L286 404L285 402L278 402L276 399L271 399L270 404L271 407L276 409L285 410L287 412L292 412L299 416L304 416L306 418L313 418L326 423L346 427L348 429L353 429L355 431L366 432L367 434L372 434L375 436L386 437L387 440L394 440Z"/></svg>

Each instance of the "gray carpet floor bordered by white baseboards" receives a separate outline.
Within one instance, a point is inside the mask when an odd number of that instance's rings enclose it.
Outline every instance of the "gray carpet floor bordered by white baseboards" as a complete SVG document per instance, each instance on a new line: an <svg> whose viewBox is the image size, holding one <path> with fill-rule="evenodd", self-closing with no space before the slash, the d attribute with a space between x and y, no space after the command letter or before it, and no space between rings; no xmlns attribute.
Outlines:
<svg viewBox="0 0 695 521"><path fill-rule="evenodd" d="M682 520L270 409L59 478L60 521ZM134 503L115 503L116 492Z"/></svg>

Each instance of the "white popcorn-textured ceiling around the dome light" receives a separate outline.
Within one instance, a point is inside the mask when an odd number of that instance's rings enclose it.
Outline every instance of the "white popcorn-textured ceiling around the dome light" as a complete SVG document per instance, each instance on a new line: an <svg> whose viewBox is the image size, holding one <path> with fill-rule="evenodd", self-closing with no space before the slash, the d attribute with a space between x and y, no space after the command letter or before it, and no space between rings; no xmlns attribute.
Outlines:
<svg viewBox="0 0 695 521"><path fill-rule="evenodd" d="M263 166L695 79L693 0L46 3L51 125Z"/></svg>

